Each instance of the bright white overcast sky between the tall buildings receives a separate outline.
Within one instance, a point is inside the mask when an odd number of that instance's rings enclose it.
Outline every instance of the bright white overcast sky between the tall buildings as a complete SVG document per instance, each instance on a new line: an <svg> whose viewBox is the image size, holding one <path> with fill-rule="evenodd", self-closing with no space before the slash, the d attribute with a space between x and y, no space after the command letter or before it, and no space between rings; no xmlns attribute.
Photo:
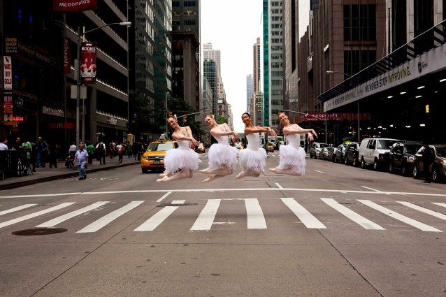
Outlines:
<svg viewBox="0 0 446 297"><path fill-rule="evenodd" d="M221 51L222 81L239 132L245 127L240 117L246 110L252 45L262 34L261 13L262 0L201 0L201 45L212 43Z"/></svg>

